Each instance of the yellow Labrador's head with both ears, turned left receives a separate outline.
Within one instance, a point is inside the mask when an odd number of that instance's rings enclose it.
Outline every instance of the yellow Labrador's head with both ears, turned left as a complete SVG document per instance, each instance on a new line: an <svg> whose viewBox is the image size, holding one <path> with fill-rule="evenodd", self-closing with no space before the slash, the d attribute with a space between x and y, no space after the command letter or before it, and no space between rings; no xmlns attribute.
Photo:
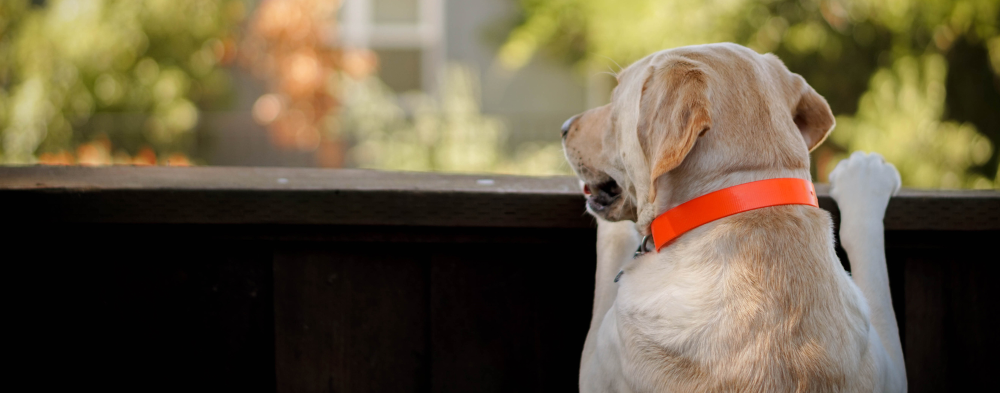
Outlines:
<svg viewBox="0 0 1000 393"><path fill-rule="evenodd" d="M698 196L673 192L689 183L808 170L809 150L833 125L826 100L776 56L711 44L637 61L619 73L610 104L567 120L562 132L587 210L636 221L645 233L658 209Z"/></svg>

